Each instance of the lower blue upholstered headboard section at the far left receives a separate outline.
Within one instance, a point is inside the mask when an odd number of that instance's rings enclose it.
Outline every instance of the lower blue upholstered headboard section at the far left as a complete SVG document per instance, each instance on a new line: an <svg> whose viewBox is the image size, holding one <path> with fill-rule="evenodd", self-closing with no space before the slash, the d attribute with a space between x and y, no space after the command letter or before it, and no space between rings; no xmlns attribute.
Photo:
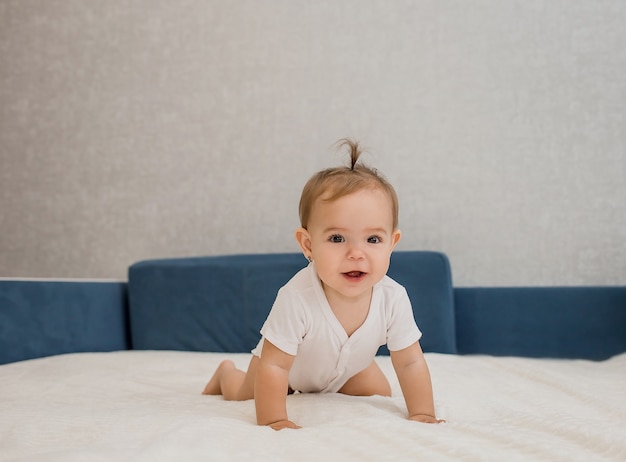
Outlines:
<svg viewBox="0 0 626 462"><path fill-rule="evenodd" d="M0 280L0 364L130 348L126 283Z"/></svg>

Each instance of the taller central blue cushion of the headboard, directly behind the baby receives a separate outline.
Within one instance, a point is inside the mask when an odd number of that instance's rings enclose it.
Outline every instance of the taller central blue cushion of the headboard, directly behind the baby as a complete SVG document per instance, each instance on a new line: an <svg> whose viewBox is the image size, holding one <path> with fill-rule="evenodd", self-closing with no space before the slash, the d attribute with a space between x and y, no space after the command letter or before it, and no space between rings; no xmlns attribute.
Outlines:
<svg viewBox="0 0 626 462"><path fill-rule="evenodd" d="M301 254L146 260L129 268L132 347L249 352L278 289L306 265ZM395 252L425 351L456 353L452 281L438 252ZM384 353L384 351L383 351Z"/></svg>

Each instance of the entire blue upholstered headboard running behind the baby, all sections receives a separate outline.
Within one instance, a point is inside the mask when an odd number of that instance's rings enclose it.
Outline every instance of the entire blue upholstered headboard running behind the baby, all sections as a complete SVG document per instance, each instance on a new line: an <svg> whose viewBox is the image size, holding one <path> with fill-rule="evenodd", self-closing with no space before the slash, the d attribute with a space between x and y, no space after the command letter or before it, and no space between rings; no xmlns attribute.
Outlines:
<svg viewBox="0 0 626 462"><path fill-rule="evenodd" d="M129 282L0 279L0 364L128 348L247 352L300 254L148 260ZM438 252L395 252L425 351L586 358L626 352L626 286L452 288ZM383 351L381 351L384 353Z"/></svg>

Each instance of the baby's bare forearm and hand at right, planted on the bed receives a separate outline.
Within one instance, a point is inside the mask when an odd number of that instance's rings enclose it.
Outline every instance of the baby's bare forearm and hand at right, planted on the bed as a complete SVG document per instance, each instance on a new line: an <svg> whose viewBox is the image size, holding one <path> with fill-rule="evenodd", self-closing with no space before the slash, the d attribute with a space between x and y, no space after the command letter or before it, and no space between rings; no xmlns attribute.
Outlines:
<svg viewBox="0 0 626 462"><path fill-rule="evenodd" d="M404 350L392 351L391 362L404 394L409 419L426 423L443 422L435 416L430 372L419 342Z"/></svg>

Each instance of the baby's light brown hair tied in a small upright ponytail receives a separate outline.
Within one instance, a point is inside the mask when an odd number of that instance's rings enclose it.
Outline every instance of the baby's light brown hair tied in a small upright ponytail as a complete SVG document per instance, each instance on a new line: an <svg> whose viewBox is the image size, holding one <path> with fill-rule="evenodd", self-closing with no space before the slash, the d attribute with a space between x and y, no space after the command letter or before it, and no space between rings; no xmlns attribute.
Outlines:
<svg viewBox="0 0 626 462"><path fill-rule="evenodd" d="M333 167L314 174L304 185L300 196L300 224L306 229L315 202L325 195L323 200L334 201L363 189L380 189L391 201L393 229L398 228L398 195L391 184L376 169L359 163L362 150L359 143L351 139L342 139L338 149L348 148L349 167Z"/></svg>

